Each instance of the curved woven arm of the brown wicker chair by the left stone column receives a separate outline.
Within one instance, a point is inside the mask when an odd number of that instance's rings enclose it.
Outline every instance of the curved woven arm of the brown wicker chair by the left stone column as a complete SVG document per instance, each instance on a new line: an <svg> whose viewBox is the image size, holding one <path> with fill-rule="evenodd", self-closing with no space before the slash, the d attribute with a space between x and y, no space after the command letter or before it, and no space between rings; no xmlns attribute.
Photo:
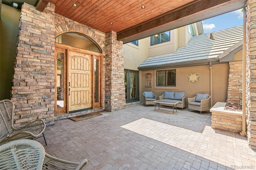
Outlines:
<svg viewBox="0 0 256 170"><path fill-rule="evenodd" d="M44 132L45 123L41 119L36 119L23 127L14 128L14 133L29 132L33 137L38 137Z"/></svg>

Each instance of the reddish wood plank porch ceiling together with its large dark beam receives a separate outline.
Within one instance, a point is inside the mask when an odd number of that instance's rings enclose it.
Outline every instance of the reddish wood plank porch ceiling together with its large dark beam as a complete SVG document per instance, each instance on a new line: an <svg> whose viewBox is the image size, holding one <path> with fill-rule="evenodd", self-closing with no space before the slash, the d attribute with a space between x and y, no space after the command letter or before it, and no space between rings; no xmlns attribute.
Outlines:
<svg viewBox="0 0 256 170"><path fill-rule="evenodd" d="M124 43L246 5L246 0L40 0L37 8L45 1L55 4L56 14L105 33L117 32ZM170 27L172 23L176 24Z"/></svg>

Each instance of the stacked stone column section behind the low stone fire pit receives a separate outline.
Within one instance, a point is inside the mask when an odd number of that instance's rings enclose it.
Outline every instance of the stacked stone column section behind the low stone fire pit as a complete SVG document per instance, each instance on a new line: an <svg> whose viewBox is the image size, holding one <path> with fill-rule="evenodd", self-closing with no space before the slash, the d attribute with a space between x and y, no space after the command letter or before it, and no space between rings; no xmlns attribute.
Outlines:
<svg viewBox="0 0 256 170"><path fill-rule="evenodd" d="M229 63L228 75L228 103L240 103L243 100L243 64L242 61L234 61Z"/></svg>

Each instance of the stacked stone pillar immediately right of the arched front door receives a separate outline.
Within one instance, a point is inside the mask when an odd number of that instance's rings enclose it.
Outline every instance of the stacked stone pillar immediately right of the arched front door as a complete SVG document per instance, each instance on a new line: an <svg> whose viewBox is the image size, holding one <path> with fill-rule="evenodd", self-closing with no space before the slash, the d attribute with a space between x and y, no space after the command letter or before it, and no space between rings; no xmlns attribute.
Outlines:
<svg viewBox="0 0 256 170"><path fill-rule="evenodd" d="M116 32L106 34L106 87L105 110L116 111L125 107L123 43L116 40Z"/></svg>

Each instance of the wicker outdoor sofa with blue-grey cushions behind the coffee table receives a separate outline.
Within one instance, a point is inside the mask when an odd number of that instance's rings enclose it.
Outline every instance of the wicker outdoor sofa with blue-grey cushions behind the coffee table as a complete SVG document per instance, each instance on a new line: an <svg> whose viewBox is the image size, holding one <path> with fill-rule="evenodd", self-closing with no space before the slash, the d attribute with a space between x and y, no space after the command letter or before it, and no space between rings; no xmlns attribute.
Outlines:
<svg viewBox="0 0 256 170"><path fill-rule="evenodd" d="M159 99L163 101L179 102L176 107L182 108L183 110L183 108L186 107L185 97L186 94L184 92L165 91L163 95L159 96Z"/></svg>

